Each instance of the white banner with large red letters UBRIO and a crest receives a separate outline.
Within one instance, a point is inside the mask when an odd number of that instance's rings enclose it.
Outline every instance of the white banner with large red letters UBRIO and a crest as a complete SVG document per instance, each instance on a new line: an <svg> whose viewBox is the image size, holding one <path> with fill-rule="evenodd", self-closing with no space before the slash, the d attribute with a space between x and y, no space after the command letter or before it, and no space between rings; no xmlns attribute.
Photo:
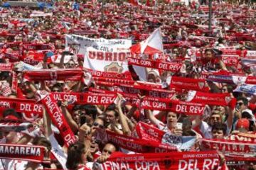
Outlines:
<svg viewBox="0 0 256 170"><path fill-rule="evenodd" d="M101 72L129 72L126 60L129 55L130 52L127 50L119 52L102 52L93 47L87 47L83 67Z"/></svg>

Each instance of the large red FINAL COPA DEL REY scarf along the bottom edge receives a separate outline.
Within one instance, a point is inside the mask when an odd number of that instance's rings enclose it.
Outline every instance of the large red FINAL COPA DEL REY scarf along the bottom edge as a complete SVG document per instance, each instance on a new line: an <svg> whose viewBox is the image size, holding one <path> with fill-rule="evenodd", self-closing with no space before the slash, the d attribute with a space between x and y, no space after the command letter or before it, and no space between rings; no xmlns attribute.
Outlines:
<svg viewBox="0 0 256 170"><path fill-rule="evenodd" d="M208 164L208 166L206 165ZM158 154L112 154L99 169L218 169L217 152L171 152ZM121 168L122 167L122 168ZM190 168L188 168L190 167Z"/></svg>

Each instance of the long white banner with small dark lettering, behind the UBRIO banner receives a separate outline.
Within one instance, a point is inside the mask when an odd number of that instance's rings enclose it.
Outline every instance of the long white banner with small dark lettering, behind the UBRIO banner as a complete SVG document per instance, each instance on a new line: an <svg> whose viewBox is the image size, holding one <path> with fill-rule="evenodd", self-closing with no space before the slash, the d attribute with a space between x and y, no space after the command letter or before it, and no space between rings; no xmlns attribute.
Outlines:
<svg viewBox="0 0 256 170"><path fill-rule="evenodd" d="M93 47L102 52L119 52L128 50L132 46L132 40L105 38L87 38L81 35L65 35L65 47L75 47L79 55L85 55L87 47Z"/></svg>

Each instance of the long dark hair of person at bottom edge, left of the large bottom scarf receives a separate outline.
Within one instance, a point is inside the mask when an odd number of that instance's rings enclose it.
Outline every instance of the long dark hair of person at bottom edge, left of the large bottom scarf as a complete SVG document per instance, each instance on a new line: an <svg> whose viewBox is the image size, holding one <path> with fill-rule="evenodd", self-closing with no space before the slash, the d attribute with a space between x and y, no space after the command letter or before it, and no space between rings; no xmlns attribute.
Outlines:
<svg viewBox="0 0 256 170"><path fill-rule="evenodd" d="M76 169L82 164L82 152L85 145L82 142L75 142L68 147L68 158L66 166L68 169Z"/></svg>

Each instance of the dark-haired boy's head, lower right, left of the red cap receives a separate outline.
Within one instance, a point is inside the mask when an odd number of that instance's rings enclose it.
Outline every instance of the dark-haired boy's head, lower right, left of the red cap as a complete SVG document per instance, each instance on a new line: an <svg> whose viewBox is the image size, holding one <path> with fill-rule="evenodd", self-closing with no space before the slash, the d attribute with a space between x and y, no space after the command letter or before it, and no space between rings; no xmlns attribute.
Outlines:
<svg viewBox="0 0 256 170"><path fill-rule="evenodd" d="M212 136L213 139L224 139L227 132L227 125L225 123L214 123L212 127Z"/></svg>

